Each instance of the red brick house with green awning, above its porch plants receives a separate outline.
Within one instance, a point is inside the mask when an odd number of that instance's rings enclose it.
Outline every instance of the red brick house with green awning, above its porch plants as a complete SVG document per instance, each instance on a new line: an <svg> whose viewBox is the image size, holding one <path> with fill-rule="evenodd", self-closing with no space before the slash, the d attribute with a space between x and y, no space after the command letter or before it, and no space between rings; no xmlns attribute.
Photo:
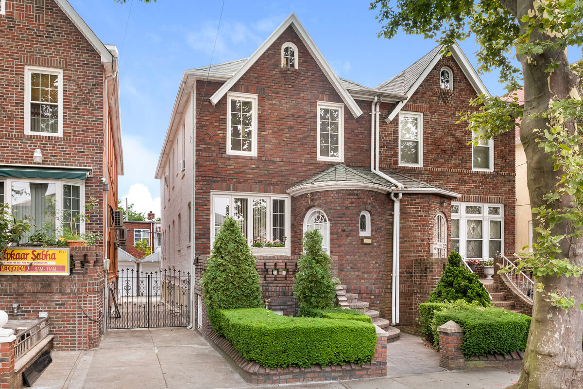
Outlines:
<svg viewBox="0 0 583 389"><path fill-rule="evenodd" d="M101 258L117 267L118 175L123 174L118 51L103 44L66 0L0 5L0 201L36 230L64 212L89 220L72 229L101 234ZM57 226L58 227L58 226Z"/></svg>

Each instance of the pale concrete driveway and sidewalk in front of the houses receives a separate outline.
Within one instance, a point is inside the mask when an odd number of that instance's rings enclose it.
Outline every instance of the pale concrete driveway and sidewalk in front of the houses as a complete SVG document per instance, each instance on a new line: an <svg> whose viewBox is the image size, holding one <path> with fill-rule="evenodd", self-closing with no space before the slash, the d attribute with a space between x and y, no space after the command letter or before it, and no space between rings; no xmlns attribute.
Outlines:
<svg viewBox="0 0 583 389"><path fill-rule="evenodd" d="M409 335L410 336L410 335ZM415 337L412 337L415 338ZM404 337L395 346L403 366L434 371L430 354L410 346ZM416 338L419 339L419 338ZM409 348L409 354L402 352ZM429 352L433 352L429 350ZM413 354L418 353L417 357ZM392 353L392 365L399 356ZM417 359L415 359L417 358ZM53 362L34 384L37 389L212 389L275 388L246 383L195 331L186 328L110 330L101 346L90 351L53 351ZM421 359L421 360L420 360ZM390 366L390 365L389 365ZM407 368L409 369L409 368ZM424 373L389 371L391 377L373 380L289 385L291 389L487 389L505 388L518 380L519 372L469 370ZM397 374L398 376L395 376Z"/></svg>

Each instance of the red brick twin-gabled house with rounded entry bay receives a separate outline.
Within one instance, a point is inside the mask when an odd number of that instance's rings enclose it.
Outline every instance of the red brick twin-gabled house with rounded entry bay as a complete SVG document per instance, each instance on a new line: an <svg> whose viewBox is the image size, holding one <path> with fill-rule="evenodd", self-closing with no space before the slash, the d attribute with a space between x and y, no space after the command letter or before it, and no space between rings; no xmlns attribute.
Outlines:
<svg viewBox="0 0 583 389"><path fill-rule="evenodd" d="M251 57L185 71L156 170L163 267L194 273L226 216L250 244L283 242L256 255L299 255L319 229L349 291L413 324L449 251L511 255L514 136L468 144L456 113L488 91L449 51L366 87L292 13Z"/></svg>

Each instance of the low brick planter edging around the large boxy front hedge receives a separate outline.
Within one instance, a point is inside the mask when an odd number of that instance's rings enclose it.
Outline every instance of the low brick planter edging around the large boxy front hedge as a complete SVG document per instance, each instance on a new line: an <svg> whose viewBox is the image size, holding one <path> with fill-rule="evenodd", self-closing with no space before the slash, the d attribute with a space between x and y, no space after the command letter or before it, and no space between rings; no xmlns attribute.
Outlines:
<svg viewBox="0 0 583 389"><path fill-rule="evenodd" d="M213 348L229 362L231 367L249 383L254 384L294 384L315 381L342 381L387 376L387 338L378 337L377 346L371 363L362 366L355 363L345 365L310 367L285 367L269 369L257 362L248 361L227 339L215 331L207 337Z"/></svg>

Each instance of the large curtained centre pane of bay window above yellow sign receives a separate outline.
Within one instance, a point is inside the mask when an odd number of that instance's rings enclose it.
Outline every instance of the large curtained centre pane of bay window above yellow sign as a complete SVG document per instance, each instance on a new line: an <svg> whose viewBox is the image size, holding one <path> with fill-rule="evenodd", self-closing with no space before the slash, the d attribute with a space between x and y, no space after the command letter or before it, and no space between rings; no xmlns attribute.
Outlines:
<svg viewBox="0 0 583 389"><path fill-rule="evenodd" d="M29 219L33 226L24 234L22 242L44 225L48 232L55 231L55 184L12 183L12 214L17 219Z"/></svg>

